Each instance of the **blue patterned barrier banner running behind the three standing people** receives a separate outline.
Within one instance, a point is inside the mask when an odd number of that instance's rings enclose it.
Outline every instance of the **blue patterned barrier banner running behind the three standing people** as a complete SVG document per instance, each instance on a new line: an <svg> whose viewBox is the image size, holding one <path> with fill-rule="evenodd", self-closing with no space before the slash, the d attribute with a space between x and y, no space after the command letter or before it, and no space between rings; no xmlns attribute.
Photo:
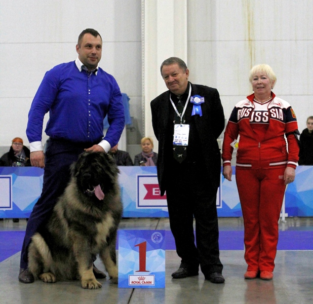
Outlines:
<svg viewBox="0 0 313 304"><path fill-rule="evenodd" d="M119 168L123 217L168 217L166 196L160 196L156 167ZM29 217L41 195L43 174L43 169L35 167L0 167L0 218ZM288 216L313 216L312 180L313 166L297 167L296 179L286 190ZM231 182L221 175L216 205L219 217L242 216L234 175Z"/></svg>

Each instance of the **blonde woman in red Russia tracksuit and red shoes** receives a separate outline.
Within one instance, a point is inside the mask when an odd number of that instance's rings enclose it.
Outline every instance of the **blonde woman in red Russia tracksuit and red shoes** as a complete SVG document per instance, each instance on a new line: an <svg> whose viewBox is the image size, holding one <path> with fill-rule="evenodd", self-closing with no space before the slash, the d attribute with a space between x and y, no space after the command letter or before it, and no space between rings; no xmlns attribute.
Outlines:
<svg viewBox="0 0 313 304"><path fill-rule="evenodd" d="M245 279L271 280L284 193L295 178L299 131L290 104L271 92L276 83L271 67L254 66L249 80L254 93L236 104L226 126L223 175L231 180L230 160L239 135L236 182L245 226Z"/></svg>

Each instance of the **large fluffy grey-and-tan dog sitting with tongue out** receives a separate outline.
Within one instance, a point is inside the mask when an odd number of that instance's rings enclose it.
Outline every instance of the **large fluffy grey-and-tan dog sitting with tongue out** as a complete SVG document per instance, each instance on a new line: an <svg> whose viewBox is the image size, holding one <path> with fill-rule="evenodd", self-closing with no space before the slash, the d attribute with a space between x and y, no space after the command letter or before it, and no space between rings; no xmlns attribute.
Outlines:
<svg viewBox="0 0 313 304"><path fill-rule="evenodd" d="M84 152L71 167L71 180L45 229L29 245L28 269L44 282L80 279L83 288L102 285L93 274L93 256L100 255L114 283L116 233L123 206L119 169L105 153Z"/></svg>

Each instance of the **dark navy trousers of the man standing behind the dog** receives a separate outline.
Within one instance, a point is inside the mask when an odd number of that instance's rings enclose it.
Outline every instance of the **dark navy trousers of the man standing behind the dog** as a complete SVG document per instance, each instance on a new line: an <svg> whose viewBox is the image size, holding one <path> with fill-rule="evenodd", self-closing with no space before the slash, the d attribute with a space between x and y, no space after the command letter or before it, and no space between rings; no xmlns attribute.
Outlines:
<svg viewBox="0 0 313 304"><path fill-rule="evenodd" d="M97 143L99 143L97 141ZM27 268L28 246L31 237L51 216L58 197L64 192L70 179L70 165L77 161L84 148L94 143L72 143L65 140L49 139L45 151L45 172L42 194L29 216L21 251L20 267Z"/></svg>

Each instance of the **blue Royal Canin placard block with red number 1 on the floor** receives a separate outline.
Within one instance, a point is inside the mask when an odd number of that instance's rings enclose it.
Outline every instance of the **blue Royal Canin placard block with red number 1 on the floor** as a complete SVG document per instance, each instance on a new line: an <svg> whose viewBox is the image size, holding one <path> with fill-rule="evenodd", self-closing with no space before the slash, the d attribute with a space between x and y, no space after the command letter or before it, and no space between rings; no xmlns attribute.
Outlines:
<svg viewBox="0 0 313 304"><path fill-rule="evenodd" d="M119 231L119 288L165 288L165 230Z"/></svg>

